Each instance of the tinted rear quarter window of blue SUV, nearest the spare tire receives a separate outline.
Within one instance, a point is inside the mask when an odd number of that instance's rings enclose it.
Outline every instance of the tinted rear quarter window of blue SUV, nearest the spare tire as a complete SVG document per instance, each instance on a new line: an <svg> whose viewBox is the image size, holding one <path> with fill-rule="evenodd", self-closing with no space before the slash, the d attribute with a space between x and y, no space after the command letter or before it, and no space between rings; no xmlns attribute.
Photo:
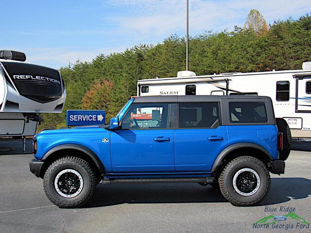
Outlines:
<svg viewBox="0 0 311 233"><path fill-rule="evenodd" d="M268 122L264 102L229 102L231 123L263 123Z"/></svg>

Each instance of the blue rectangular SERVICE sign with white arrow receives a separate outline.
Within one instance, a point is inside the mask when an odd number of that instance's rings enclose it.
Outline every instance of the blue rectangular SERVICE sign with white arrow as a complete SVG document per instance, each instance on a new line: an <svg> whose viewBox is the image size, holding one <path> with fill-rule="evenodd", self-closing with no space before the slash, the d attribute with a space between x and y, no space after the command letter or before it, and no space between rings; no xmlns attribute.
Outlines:
<svg viewBox="0 0 311 233"><path fill-rule="evenodd" d="M100 125L106 123L105 110L67 110L67 125Z"/></svg>

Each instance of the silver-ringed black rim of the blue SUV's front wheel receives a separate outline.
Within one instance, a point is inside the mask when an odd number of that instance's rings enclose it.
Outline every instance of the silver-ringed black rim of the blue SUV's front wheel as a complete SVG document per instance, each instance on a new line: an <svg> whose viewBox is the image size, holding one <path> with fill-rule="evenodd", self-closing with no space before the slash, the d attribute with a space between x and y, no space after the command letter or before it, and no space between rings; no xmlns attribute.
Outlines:
<svg viewBox="0 0 311 233"><path fill-rule="evenodd" d="M67 181L66 183L64 183L64 176L70 177L65 179ZM64 198L73 198L78 196L83 189L83 184L84 183L81 174L73 169L65 169L60 171L54 180L54 187L56 192Z"/></svg>

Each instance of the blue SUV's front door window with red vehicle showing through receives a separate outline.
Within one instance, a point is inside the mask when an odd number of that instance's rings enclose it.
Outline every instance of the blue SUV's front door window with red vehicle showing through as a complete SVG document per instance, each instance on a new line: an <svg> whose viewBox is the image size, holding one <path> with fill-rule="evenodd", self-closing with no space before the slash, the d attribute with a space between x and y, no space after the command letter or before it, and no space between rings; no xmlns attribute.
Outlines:
<svg viewBox="0 0 311 233"><path fill-rule="evenodd" d="M167 129L169 103L134 103L122 120L122 129Z"/></svg>

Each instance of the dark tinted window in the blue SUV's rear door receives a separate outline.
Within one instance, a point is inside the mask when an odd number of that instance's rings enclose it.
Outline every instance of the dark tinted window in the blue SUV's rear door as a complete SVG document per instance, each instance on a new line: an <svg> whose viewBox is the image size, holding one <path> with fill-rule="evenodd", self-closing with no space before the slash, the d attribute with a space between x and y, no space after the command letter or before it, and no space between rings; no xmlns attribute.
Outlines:
<svg viewBox="0 0 311 233"><path fill-rule="evenodd" d="M179 128L216 128L220 125L217 102L178 104Z"/></svg>

